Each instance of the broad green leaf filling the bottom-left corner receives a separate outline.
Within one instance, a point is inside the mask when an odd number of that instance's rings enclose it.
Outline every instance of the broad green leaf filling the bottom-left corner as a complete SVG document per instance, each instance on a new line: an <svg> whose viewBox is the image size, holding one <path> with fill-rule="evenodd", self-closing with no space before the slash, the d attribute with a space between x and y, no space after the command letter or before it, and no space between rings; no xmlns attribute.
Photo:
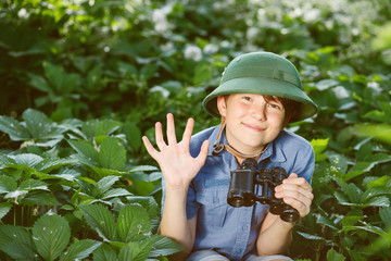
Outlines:
<svg viewBox="0 0 391 261"><path fill-rule="evenodd" d="M0 249L15 260L34 260L31 235L25 227L0 225Z"/></svg>

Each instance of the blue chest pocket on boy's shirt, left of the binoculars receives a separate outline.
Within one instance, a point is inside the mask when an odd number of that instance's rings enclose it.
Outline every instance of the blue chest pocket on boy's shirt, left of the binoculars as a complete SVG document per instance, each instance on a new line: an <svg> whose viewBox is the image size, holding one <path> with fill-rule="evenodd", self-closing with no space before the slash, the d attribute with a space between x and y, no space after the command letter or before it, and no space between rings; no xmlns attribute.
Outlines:
<svg viewBox="0 0 391 261"><path fill-rule="evenodd" d="M197 190L197 202L200 204L198 221L204 226L224 226L227 216L228 187L199 187Z"/></svg>

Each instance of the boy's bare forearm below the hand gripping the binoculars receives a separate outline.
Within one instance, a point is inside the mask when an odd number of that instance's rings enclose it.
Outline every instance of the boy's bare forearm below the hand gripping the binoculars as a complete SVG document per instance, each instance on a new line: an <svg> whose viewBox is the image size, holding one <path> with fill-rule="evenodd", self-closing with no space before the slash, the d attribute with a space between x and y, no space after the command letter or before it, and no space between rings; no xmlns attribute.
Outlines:
<svg viewBox="0 0 391 261"><path fill-rule="evenodd" d="M270 226L260 232L256 240L258 256L283 253L292 243L293 226L277 216Z"/></svg>

